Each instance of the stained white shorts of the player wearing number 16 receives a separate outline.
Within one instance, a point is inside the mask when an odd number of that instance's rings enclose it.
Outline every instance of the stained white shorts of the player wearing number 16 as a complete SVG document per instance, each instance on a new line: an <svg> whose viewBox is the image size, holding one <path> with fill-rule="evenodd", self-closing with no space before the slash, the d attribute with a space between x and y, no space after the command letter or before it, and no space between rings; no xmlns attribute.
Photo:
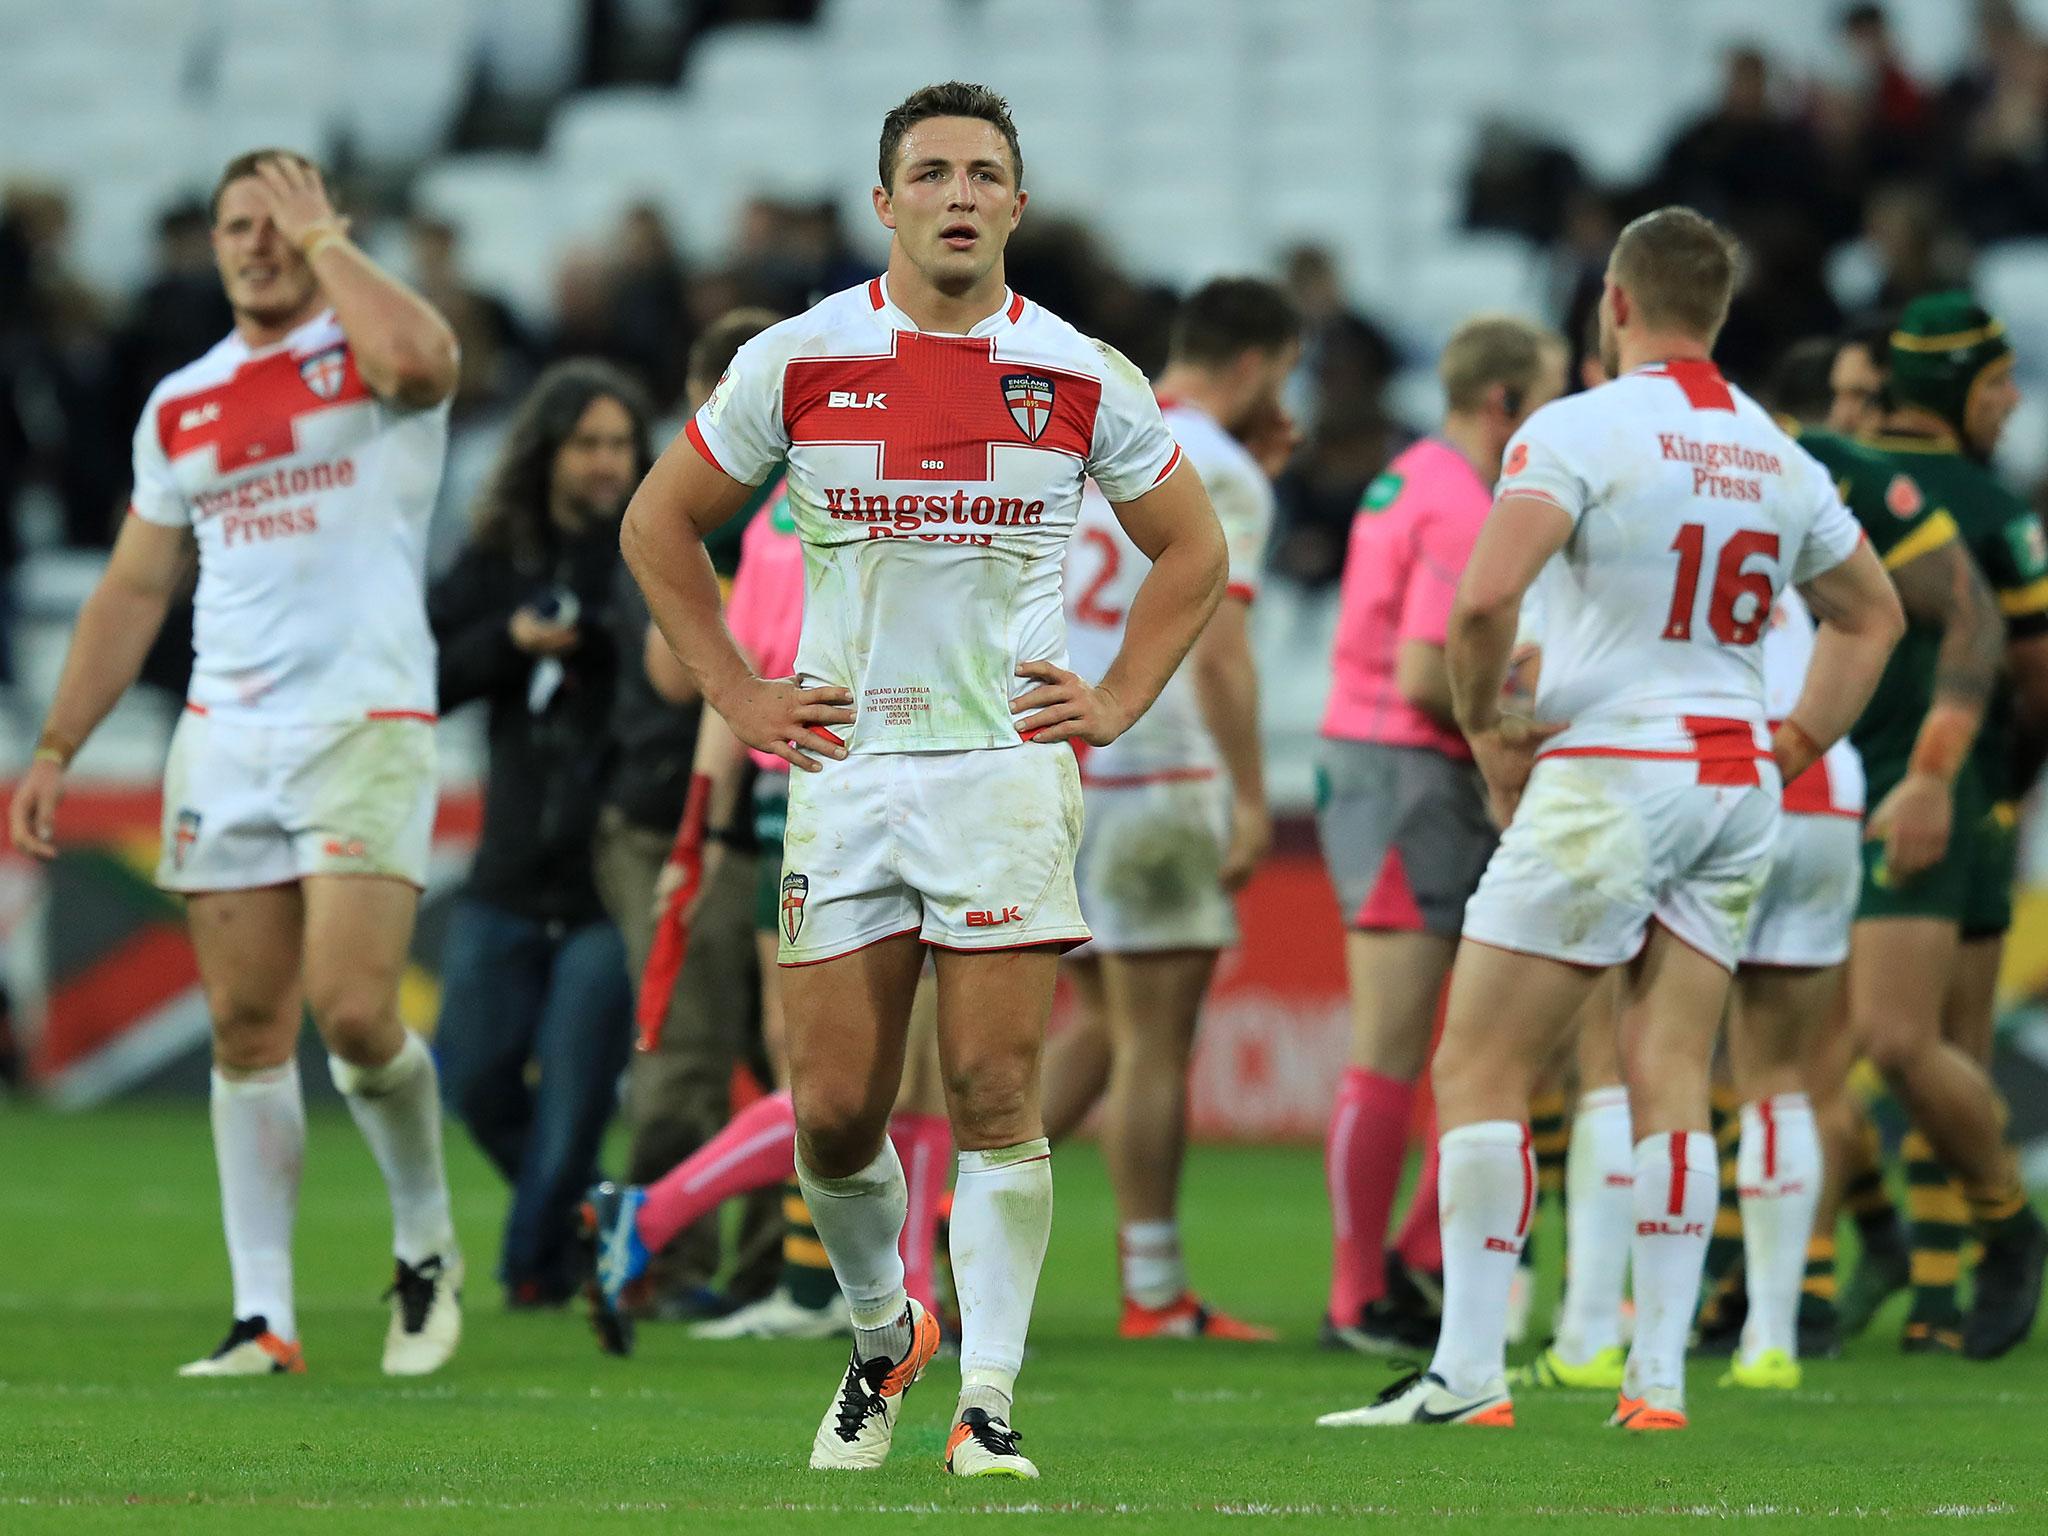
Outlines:
<svg viewBox="0 0 2048 1536"><path fill-rule="evenodd" d="M1712 784L1702 764L1540 758L1464 938L1571 965L1636 956L1651 922L1735 971L1778 840L1778 770Z"/></svg>

